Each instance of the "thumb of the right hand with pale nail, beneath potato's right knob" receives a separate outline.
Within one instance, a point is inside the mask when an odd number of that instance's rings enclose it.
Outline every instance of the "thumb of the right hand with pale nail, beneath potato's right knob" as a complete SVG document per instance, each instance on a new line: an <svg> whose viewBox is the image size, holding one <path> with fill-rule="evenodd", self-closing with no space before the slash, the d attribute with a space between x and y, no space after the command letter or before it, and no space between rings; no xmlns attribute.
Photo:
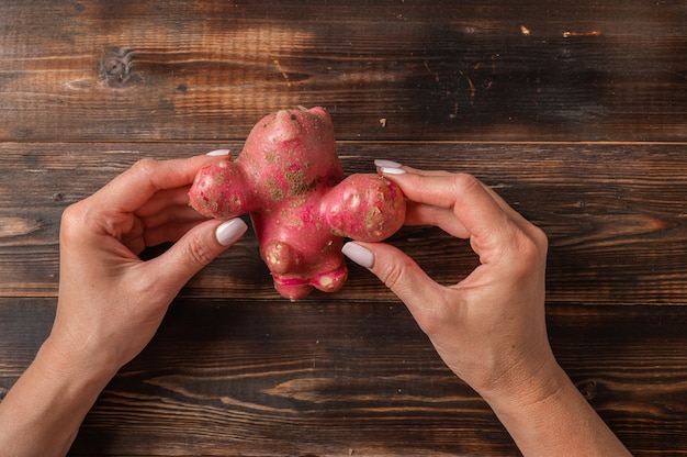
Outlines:
<svg viewBox="0 0 687 457"><path fill-rule="evenodd" d="M344 255L372 271L410 310L416 319L441 300L444 288L438 285L401 249L384 243L349 242Z"/></svg>

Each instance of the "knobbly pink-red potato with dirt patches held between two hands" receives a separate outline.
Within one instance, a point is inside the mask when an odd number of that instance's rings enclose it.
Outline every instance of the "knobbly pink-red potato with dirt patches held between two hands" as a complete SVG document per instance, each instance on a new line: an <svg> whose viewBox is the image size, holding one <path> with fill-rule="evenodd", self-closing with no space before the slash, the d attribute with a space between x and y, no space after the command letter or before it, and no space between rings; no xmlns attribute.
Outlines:
<svg viewBox="0 0 687 457"><path fill-rule="evenodd" d="M348 277L344 237L381 241L405 218L399 189L378 175L344 171L322 108L260 120L241 154L201 169L190 204L207 218L250 213L274 288L294 301L313 288L339 290Z"/></svg>

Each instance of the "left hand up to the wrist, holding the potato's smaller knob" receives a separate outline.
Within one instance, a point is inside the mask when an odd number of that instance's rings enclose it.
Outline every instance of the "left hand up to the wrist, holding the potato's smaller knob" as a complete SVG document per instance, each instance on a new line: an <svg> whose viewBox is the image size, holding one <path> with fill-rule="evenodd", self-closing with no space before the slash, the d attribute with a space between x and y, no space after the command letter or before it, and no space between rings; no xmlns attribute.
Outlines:
<svg viewBox="0 0 687 457"><path fill-rule="evenodd" d="M246 231L239 219L206 221L189 207L190 183L213 160L140 160L65 211L50 343L114 371L145 347L183 285ZM176 243L159 257L138 257L166 242Z"/></svg>

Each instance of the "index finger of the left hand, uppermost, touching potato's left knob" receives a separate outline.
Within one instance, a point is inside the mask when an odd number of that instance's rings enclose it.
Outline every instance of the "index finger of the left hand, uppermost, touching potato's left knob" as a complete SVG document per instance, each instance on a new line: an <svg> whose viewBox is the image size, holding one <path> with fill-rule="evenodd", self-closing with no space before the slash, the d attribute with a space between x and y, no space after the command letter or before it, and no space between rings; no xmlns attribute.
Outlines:
<svg viewBox="0 0 687 457"><path fill-rule="evenodd" d="M164 161L142 159L91 198L98 208L133 212L157 191L190 185L203 166L216 160L216 157L206 155Z"/></svg>

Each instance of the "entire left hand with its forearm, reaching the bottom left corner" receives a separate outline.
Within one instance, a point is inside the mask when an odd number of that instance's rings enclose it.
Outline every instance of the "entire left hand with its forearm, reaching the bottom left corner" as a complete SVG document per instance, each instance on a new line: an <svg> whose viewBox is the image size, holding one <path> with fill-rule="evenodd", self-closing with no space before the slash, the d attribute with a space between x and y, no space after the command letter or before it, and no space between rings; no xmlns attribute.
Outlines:
<svg viewBox="0 0 687 457"><path fill-rule="evenodd" d="M246 231L188 207L212 156L144 159L70 205L60 227L60 276L52 332L0 403L2 456L61 456L116 371L157 331L185 282ZM176 242L144 261L146 246Z"/></svg>

